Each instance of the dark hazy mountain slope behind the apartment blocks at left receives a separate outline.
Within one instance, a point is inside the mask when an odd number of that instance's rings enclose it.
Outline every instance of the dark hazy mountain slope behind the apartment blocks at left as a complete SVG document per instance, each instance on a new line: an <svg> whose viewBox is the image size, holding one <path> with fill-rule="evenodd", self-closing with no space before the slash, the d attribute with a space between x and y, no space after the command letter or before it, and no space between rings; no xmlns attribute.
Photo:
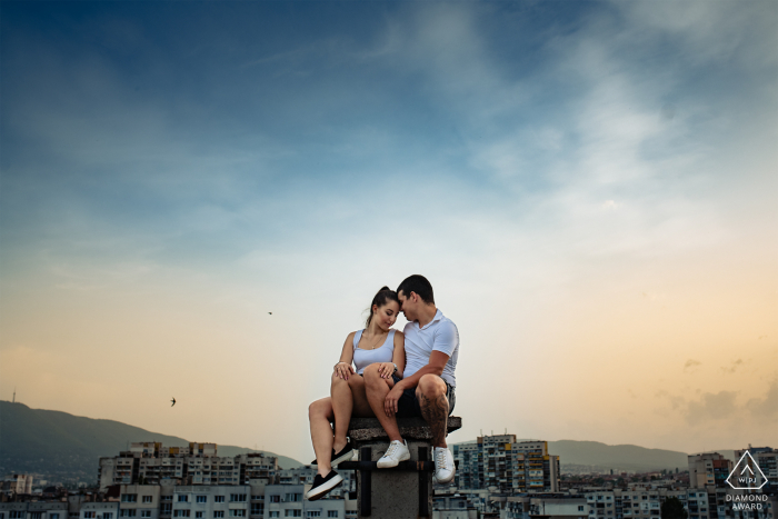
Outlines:
<svg viewBox="0 0 778 519"><path fill-rule="evenodd" d="M128 450L132 441L161 441L187 447L189 441L150 432L114 420L76 417L61 411L30 409L23 403L0 400L0 475L38 473L51 482L76 485L97 481L99 459ZM219 456L262 452L235 446L219 446ZM272 452L280 468L302 463Z"/></svg>

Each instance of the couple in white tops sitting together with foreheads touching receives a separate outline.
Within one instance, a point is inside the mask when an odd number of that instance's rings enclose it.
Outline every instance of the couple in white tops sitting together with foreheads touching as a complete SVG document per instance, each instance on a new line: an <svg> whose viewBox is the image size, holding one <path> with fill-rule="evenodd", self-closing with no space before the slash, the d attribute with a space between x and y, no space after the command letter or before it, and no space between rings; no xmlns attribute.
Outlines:
<svg viewBox="0 0 778 519"><path fill-rule="evenodd" d="M391 329L400 312L409 321L402 332ZM427 278L411 276L397 292L387 287L379 290L366 328L346 338L340 361L335 365L331 396L310 405L318 473L306 498L321 499L343 481L332 466L353 455L346 438L351 416L378 418L389 436L389 449L378 460L378 468L397 467L410 459L397 418L423 417L432 430L435 479L451 481L455 466L446 445L446 428L456 402L458 355L459 331L435 306ZM330 421L335 421L335 433Z"/></svg>

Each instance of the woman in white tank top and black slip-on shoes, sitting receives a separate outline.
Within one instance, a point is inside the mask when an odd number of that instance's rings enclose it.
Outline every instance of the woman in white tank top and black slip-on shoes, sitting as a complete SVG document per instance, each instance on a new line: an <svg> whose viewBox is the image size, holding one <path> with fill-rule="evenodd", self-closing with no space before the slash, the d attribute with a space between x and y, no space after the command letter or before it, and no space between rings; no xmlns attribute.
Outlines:
<svg viewBox="0 0 778 519"><path fill-rule="evenodd" d="M391 329L399 312L397 293L388 287L381 288L372 298L365 329L352 331L346 338L340 361L333 367L330 397L317 400L308 408L316 452L313 463L318 465L313 486L306 493L310 501L321 499L343 481L332 466L351 459L353 455L346 438L351 416L375 416L365 393L365 379L361 377L365 368L379 362L381 378L390 388L399 380L392 376L402 376L405 339L401 331ZM351 367L352 361L356 371ZM335 421L335 433L330 421Z"/></svg>

